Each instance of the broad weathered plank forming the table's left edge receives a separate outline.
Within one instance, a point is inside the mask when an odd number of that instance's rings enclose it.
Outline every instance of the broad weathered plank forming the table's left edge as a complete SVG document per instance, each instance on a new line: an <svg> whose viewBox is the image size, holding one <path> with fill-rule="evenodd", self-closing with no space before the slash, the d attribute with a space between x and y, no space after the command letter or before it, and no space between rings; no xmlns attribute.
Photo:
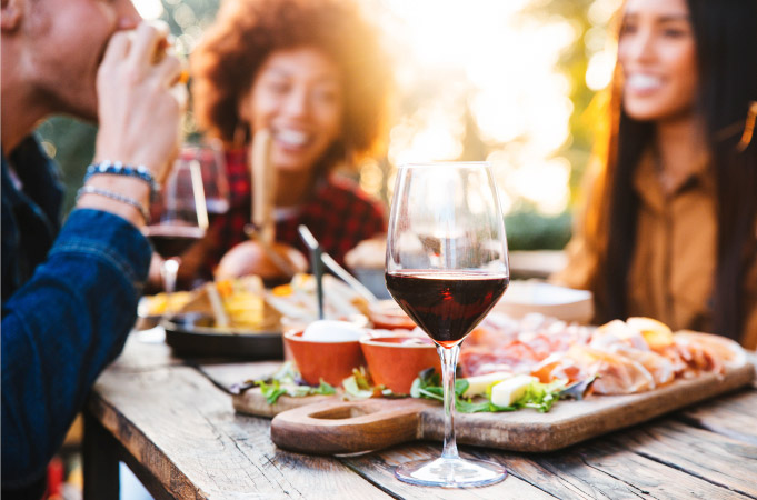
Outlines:
<svg viewBox="0 0 757 500"><path fill-rule="evenodd" d="M387 498L338 460L276 449L268 420L191 368L107 370L89 409L176 498Z"/></svg>

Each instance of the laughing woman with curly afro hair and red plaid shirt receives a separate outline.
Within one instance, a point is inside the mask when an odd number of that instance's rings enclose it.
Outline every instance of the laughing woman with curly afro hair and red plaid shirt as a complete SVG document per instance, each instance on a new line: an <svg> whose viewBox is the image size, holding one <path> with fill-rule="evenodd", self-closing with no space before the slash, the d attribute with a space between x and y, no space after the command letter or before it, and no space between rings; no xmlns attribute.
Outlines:
<svg viewBox="0 0 757 500"><path fill-rule="evenodd" d="M200 271L247 239L251 170L273 172L270 183L255 187L255 198L270 191L280 242L306 251L297 230L305 224L343 262L348 250L385 230L384 208L333 174L377 151L391 88L378 32L357 4L223 3L190 62L197 121L223 141L232 188L229 214L213 221L189 259ZM261 137L270 143L250 148ZM198 266L186 270L197 272Z"/></svg>

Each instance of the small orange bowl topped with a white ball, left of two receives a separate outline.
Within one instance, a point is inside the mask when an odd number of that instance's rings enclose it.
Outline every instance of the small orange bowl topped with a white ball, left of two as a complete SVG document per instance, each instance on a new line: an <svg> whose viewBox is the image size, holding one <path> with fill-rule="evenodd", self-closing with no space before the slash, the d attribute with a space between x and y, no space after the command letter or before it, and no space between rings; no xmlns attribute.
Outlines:
<svg viewBox="0 0 757 500"><path fill-rule="evenodd" d="M320 379L340 386L352 374L353 368L366 366L357 340L317 342L303 340L302 330L291 330L283 334L283 343L295 358L302 379L310 386L318 386Z"/></svg>

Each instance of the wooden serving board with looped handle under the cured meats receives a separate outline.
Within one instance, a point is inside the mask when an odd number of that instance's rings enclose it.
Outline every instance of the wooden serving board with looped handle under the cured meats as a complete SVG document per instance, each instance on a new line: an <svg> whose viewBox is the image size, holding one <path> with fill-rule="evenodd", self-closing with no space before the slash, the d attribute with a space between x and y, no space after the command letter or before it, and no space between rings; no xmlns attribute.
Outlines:
<svg viewBox="0 0 757 500"><path fill-rule="evenodd" d="M629 396L591 396L559 401L547 413L524 409L501 413L456 413L457 442L516 451L552 451L633 426L748 384L746 362L723 376L706 373ZM346 402L333 396L281 397L270 406L259 389L233 398L241 413L273 417L271 439L282 449L353 453L426 439L444 439L444 410L437 401L369 399Z"/></svg>

